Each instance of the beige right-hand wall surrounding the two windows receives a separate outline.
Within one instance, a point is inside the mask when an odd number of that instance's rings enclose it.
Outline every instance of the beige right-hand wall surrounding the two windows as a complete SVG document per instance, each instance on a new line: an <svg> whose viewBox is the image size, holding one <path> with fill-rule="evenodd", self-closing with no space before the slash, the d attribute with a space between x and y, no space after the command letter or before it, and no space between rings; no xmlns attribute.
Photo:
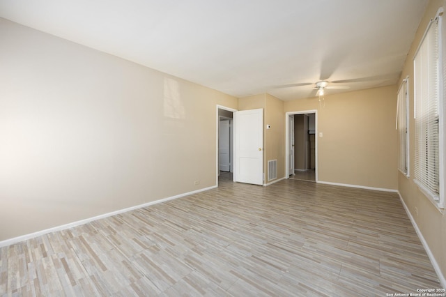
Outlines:
<svg viewBox="0 0 446 297"><path fill-rule="evenodd" d="M404 203L408 207L413 219L415 220L417 227L422 233L422 237L429 246L429 250L439 266L439 269L443 275L443 285L446 284L446 213L445 210L439 211L429 199L427 199L417 185L415 185L413 178L413 168L415 164L415 120L413 119L413 57L415 51L421 42L422 35L426 31L427 24L431 18L435 17L438 8L446 6L446 1L432 0L429 2L429 6L426 8L424 17L420 22L417 33L413 40L412 46L408 53L406 63L404 64L401 79L409 76L409 178L406 178L400 172L398 173L398 189ZM446 38L445 38L446 26L445 16L443 16L443 61L446 61ZM443 73L443 75L445 75ZM446 114L446 113L444 113ZM445 152L443 151L443 154ZM415 208L418 210L418 214L415 212Z"/></svg>

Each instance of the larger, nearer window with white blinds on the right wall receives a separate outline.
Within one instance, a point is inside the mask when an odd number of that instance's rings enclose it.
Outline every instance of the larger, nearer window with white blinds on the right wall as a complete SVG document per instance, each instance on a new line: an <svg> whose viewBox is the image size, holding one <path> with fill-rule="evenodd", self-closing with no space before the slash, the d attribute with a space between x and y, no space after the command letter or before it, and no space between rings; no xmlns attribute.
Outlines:
<svg viewBox="0 0 446 297"><path fill-rule="evenodd" d="M436 206L444 207L443 73L441 16L431 20L414 63L415 183ZM441 158L441 160L440 160Z"/></svg>

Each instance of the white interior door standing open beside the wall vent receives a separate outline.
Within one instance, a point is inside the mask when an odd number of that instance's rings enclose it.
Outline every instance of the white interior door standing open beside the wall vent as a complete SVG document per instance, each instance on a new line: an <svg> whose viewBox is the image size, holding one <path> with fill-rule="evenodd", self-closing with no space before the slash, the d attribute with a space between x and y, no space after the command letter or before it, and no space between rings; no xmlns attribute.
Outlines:
<svg viewBox="0 0 446 297"><path fill-rule="evenodd" d="M263 109L233 113L234 181L263 185Z"/></svg>

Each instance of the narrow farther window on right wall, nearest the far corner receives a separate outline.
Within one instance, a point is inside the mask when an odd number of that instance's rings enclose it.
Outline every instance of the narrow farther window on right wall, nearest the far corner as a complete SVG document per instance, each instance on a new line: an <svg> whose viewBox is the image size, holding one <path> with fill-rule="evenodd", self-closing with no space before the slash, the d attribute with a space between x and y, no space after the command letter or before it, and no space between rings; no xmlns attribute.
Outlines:
<svg viewBox="0 0 446 297"><path fill-rule="evenodd" d="M397 130L399 138L398 169L406 176L409 176L408 79L408 77L403 79L403 83L399 87L397 102Z"/></svg>

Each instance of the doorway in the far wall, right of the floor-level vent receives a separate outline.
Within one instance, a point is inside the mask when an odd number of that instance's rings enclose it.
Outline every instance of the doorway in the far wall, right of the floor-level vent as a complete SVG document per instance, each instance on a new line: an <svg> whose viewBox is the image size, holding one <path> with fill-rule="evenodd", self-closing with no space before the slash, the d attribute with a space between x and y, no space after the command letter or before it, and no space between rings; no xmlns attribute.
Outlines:
<svg viewBox="0 0 446 297"><path fill-rule="evenodd" d="M286 113L286 176L316 182L317 111Z"/></svg>

